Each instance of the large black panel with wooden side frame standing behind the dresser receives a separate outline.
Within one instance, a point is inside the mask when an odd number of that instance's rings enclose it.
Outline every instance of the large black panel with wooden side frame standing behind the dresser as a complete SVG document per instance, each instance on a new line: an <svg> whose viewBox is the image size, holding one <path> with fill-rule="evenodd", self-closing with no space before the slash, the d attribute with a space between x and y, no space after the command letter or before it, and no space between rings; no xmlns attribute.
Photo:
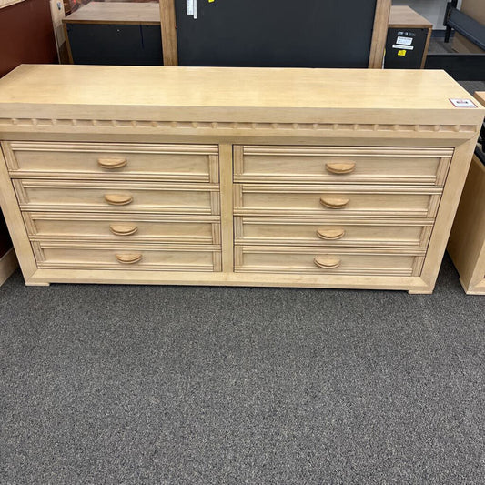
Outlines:
<svg viewBox="0 0 485 485"><path fill-rule="evenodd" d="M185 0L160 0L165 65L380 69L390 4L391 0L375 0L362 7L358 0L353 6L346 4L342 12L335 2L326 6L322 0L303 7L281 0L198 2L195 19L187 15ZM366 14L374 7L366 31ZM363 8L360 14L358 8ZM366 49L367 36L369 49L360 66L356 53ZM339 49L345 54L338 55ZM327 56L312 55L318 50Z"/></svg>

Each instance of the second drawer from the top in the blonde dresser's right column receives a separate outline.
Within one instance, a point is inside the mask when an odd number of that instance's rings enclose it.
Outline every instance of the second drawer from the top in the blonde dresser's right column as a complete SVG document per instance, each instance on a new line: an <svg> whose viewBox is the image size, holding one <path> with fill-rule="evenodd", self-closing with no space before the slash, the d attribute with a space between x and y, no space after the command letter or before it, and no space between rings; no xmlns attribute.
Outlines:
<svg viewBox="0 0 485 485"><path fill-rule="evenodd" d="M440 188L235 184L237 215L435 217Z"/></svg>

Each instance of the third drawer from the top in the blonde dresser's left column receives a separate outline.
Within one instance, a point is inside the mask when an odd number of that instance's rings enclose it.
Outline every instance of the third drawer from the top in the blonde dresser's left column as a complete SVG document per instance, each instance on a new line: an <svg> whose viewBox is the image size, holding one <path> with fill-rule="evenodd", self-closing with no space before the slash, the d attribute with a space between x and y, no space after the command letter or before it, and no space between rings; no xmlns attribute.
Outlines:
<svg viewBox="0 0 485 485"><path fill-rule="evenodd" d="M96 216L95 214L23 214L32 240L93 240L143 243L220 244L217 217Z"/></svg>

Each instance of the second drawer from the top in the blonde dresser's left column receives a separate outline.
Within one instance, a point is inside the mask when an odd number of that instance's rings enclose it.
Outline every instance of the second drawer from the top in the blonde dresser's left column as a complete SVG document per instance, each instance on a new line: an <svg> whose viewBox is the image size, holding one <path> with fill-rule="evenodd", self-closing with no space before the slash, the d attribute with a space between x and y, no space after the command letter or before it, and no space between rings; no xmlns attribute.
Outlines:
<svg viewBox="0 0 485 485"><path fill-rule="evenodd" d="M217 186L13 180L25 211L219 214Z"/></svg>

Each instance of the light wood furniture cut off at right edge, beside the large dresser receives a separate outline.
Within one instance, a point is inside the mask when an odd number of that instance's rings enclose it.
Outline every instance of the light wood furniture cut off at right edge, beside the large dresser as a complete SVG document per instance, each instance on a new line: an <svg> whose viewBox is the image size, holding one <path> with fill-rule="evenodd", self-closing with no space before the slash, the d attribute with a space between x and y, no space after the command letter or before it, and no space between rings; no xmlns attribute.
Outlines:
<svg viewBox="0 0 485 485"><path fill-rule="evenodd" d="M485 92L477 93L485 106ZM485 295L485 165L473 157L448 252L469 295Z"/></svg>

